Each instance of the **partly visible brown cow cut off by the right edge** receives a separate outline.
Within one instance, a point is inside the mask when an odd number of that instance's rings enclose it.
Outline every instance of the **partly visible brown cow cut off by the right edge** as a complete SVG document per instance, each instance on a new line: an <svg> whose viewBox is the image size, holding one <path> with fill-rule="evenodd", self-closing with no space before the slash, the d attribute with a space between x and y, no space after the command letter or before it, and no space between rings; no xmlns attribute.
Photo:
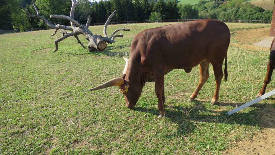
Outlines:
<svg viewBox="0 0 275 155"><path fill-rule="evenodd" d="M266 92L266 86L271 81L271 76L273 69L275 69L275 38L272 41L271 47L270 47L270 54L269 54L269 61L267 63L267 73L266 78L264 79L264 86L262 89L260 89L259 93L256 95L257 97L262 96Z"/></svg>

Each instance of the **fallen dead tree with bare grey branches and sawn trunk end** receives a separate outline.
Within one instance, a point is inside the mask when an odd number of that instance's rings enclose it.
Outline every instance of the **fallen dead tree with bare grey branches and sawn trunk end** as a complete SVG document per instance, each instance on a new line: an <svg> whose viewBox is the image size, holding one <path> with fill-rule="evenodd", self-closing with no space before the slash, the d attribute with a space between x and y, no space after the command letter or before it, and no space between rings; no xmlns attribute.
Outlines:
<svg viewBox="0 0 275 155"><path fill-rule="evenodd" d="M42 17L39 14L39 10L38 7L35 4L35 0L33 0L33 4L34 4L34 8L36 10L36 15L33 15L31 13L29 13L26 9L24 9L23 7L19 6L19 8L23 9L26 13L28 13L28 15L32 18L38 18L42 21L44 21L48 26L50 26L51 28L55 29L55 32L51 35L54 36L56 34L56 32L58 30L60 30L60 32L63 34L63 36L57 40L54 41L55 43L55 49L54 52L56 52L58 50L58 42L70 37L70 36L74 36L76 38L76 40L78 41L78 43L84 48L86 49L86 47L82 44L82 42L79 40L78 35L83 34L86 39L89 41L88 44L88 49L89 51L103 51L106 47L107 47L107 43L112 44L113 42L115 42L115 38L116 37L123 37L122 34L118 34L115 35L115 33L117 33L118 31L130 31L130 29L125 29L124 28L120 28L115 30L110 37L108 37L107 35L107 26L109 24L109 22L111 21L111 18L115 15L116 11L114 11L108 18L108 20L106 21L104 28L103 28L103 34L104 36L101 35L97 35L97 34L92 34L92 32L88 29L89 27L89 23L91 20L91 16L88 16L88 21L86 23L86 25L82 25L79 22L77 22L76 20L74 20L74 11L75 11L75 7L76 7L76 1L72 0L72 8L70 11L70 17L66 16L66 15L51 15L50 18L59 18L59 19L66 19L70 21L70 26L65 26L65 25L60 25L60 24L51 24L48 20L46 20L46 18ZM66 30L68 31L72 31L72 32L66 32Z"/></svg>

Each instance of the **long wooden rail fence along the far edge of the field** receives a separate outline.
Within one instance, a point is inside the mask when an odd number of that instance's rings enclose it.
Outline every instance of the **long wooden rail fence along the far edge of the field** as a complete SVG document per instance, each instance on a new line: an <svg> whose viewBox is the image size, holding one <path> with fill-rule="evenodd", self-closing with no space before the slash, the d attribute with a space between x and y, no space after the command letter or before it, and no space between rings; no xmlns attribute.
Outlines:
<svg viewBox="0 0 275 155"><path fill-rule="evenodd" d="M198 19L177 19L177 20L137 20L137 21L127 21L127 22L110 22L111 24L128 24L128 23L163 23L163 22L187 22L187 21L193 21ZM219 20L219 19L217 19ZM235 23L271 23L270 20L219 20L222 22L235 22ZM90 24L90 26L96 26L96 25L104 25L105 23L95 23ZM24 30L0 30L0 34L5 33L18 33L18 32L28 32L28 31L37 31L37 30L48 30L50 28L32 28L32 29L24 29Z"/></svg>

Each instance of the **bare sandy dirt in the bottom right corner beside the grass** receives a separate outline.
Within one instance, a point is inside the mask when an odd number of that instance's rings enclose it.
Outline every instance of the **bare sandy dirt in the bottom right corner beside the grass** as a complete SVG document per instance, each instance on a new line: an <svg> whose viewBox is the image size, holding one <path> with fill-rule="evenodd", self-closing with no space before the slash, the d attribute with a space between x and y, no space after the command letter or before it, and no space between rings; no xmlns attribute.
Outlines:
<svg viewBox="0 0 275 155"><path fill-rule="evenodd" d="M237 146L221 152L222 154L275 154L275 109L267 106L259 115L264 127L260 133L248 140L236 142Z"/></svg>

